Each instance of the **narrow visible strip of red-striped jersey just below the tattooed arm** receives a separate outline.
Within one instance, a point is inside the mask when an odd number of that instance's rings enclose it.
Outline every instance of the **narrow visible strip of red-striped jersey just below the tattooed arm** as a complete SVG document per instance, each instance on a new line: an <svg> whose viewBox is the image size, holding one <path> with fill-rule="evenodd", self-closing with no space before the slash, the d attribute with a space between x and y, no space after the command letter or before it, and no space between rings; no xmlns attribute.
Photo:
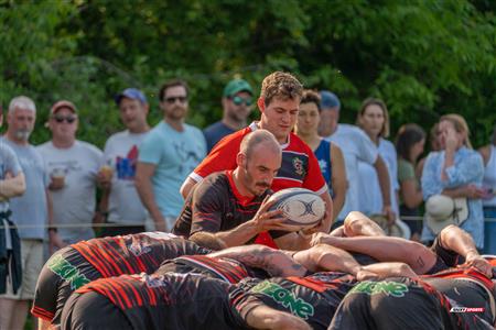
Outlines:
<svg viewBox="0 0 496 330"><path fill-rule="evenodd" d="M238 283L246 277L267 278L269 275L257 268L245 266L229 257L209 257L207 255L184 255L164 262L155 274L195 273L218 278L228 283Z"/></svg>

